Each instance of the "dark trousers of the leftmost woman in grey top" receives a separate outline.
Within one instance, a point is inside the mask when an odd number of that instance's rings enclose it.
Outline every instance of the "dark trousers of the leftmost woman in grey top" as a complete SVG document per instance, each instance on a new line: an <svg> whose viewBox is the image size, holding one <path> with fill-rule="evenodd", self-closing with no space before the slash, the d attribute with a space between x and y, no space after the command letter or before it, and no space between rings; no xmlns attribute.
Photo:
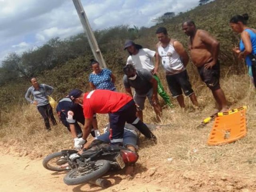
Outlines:
<svg viewBox="0 0 256 192"><path fill-rule="evenodd" d="M50 104L38 106L37 109L40 112L40 114L42 115L42 117L44 118L44 125L45 125L46 129L50 129L49 118L52 121L53 125L57 125L57 122L56 122L53 112L52 112L52 106L50 106Z"/></svg>

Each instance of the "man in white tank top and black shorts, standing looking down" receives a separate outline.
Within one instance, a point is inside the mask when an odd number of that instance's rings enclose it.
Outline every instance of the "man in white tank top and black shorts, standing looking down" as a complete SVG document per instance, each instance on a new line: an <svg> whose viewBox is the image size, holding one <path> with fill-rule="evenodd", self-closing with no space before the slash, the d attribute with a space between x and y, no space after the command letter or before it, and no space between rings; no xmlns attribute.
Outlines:
<svg viewBox="0 0 256 192"><path fill-rule="evenodd" d="M184 108L183 90L185 96L189 96L193 105L198 108L196 94L192 89L186 71L186 65L189 61L186 50L180 42L169 38L164 27L156 30L156 36L159 40L156 44L156 66L159 65L161 57L172 97L177 98L180 107Z"/></svg>

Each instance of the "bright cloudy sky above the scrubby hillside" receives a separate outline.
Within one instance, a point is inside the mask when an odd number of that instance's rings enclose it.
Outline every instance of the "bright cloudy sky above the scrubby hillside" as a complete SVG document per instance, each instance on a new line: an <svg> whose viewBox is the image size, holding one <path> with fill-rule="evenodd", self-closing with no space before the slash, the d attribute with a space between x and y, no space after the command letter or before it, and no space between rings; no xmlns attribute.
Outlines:
<svg viewBox="0 0 256 192"><path fill-rule="evenodd" d="M199 0L81 0L93 30L127 24L152 26L166 12L184 12ZM72 0L0 0L0 62L50 38L82 32Z"/></svg>

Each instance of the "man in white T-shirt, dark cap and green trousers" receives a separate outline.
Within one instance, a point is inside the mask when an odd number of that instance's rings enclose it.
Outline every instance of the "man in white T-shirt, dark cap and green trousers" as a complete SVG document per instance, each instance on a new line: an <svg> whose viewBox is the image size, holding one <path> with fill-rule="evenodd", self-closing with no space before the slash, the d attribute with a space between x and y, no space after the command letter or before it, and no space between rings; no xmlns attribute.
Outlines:
<svg viewBox="0 0 256 192"><path fill-rule="evenodd" d="M124 50L127 50L130 56L127 58L127 64L132 64L137 69L145 69L150 72L158 82L158 94L164 99L168 106L172 106L169 95L164 91L164 88L160 82L160 79L156 75L159 64L154 66L153 58L156 56L156 52L147 48L142 48L141 45L135 44L132 40L126 40L124 44Z"/></svg>

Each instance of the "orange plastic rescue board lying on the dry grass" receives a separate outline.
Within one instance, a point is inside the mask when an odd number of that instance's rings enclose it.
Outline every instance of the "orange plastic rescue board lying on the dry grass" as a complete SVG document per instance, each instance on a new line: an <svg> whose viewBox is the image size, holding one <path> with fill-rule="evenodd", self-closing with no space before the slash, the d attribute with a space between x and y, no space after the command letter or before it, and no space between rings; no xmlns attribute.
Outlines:
<svg viewBox="0 0 256 192"><path fill-rule="evenodd" d="M215 118L209 145L220 145L234 142L246 135L246 107L218 114Z"/></svg>

